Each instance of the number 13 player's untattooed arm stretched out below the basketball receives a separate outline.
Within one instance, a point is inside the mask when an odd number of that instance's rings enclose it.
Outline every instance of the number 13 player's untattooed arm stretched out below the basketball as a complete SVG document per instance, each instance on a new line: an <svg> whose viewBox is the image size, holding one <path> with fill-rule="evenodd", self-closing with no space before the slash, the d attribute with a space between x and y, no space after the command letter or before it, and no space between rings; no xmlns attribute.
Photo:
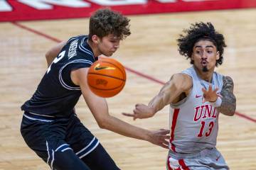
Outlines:
<svg viewBox="0 0 256 170"><path fill-rule="evenodd" d="M150 118L154 116L157 111L160 111L164 106L170 103L176 103L182 93L187 93L192 87L192 79L187 74L174 74L171 79L164 84L148 106L138 103L134 108L134 113L123 113L123 115L131 116L136 120L137 118Z"/></svg>

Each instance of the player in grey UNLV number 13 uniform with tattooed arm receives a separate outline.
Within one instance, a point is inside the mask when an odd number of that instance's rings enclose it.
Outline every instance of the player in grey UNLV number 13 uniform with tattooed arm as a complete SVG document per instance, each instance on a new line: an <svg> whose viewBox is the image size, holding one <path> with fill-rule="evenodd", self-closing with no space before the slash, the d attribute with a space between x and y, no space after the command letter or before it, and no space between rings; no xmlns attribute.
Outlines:
<svg viewBox="0 0 256 170"><path fill-rule="evenodd" d="M218 116L234 115L236 99L233 80L214 72L223 63L225 45L222 34L211 23L195 23L178 39L181 55L191 60L192 67L174 74L158 95L146 106L137 104L137 118L152 117L170 105L171 138L167 169L228 169L215 148Z"/></svg>

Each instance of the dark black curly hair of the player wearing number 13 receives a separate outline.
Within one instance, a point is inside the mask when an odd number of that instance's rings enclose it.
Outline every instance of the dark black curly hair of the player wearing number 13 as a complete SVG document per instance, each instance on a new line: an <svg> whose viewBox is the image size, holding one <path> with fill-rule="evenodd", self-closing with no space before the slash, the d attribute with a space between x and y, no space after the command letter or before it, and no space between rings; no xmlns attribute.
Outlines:
<svg viewBox="0 0 256 170"><path fill-rule="evenodd" d="M217 48L217 51L220 52L220 59L216 61L215 66L221 65L223 63L223 52L225 45L225 40L222 34L215 31L212 23L194 23L191 24L189 29L183 30L185 35L180 35L178 38L178 51L181 55L185 56L187 59L191 58L193 53L193 46L196 42L200 40L209 40L213 42L213 45ZM193 64L193 60L191 60Z"/></svg>

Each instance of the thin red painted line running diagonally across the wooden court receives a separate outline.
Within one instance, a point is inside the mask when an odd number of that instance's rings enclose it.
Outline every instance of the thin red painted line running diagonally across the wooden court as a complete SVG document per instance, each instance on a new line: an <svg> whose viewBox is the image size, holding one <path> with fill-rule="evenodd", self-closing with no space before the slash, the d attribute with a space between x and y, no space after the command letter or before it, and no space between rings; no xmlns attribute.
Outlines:
<svg viewBox="0 0 256 170"><path fill-rule="evenodd" d="M28 28L27 26L23 26L21 23L17 23L17 22L11 22L11 23L13 23L15 26L18 26L19 28L22 28L24 30L28 30L31 33L35 33L37 35L41 35L42 37L47 38L49 40L53 40L55 42L61 42L61 40L58 40L57 38L53 38L50 35L46 35L45 33L39 32L38 30L34 30L32 28ZM143 74L141 72L137 72L136 70L130 69L129 67L125 67L125 69L127 69L127 71L129 71L129 72L132 72L133 74L137 74L139 77L144 77L145 79L149 79L149 80L154 81L154 82L159 83L159 84L165 84L164 81L161 81L159 79L155 79L154 77L151 77L149 75ZM242 113L238 113L238 112L236 112L235 115L238 115L240 118L245 118L247 120L250 120L250 121L256 123L256 119L251 118L248 115L245 115L245 114L242 114Z"/></svg>

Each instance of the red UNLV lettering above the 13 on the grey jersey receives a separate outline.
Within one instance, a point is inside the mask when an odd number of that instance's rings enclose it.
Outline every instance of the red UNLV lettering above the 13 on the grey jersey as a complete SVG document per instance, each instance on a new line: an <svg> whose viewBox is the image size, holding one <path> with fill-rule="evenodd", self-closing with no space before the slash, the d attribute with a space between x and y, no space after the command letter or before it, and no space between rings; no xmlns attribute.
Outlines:
<svg viewBox="0 0 256 170"><path fill-rule="evenodd" d="M201 118L217 118L218 111L211 105L197 106L195 108L194 121L198 121Z"/></svg>

